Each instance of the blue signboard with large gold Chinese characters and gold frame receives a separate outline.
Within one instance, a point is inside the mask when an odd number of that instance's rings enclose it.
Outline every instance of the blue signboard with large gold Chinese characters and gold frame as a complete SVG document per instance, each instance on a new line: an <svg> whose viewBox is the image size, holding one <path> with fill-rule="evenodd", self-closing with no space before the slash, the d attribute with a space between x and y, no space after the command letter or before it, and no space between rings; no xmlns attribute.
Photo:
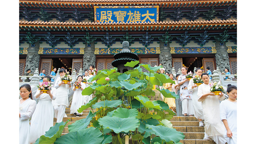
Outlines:
<svg viewBox="0 0 256 144"><path fill-rule="evenodd" d="M94 6L94 20L99 23L158 22L159 6Z"/></svg>

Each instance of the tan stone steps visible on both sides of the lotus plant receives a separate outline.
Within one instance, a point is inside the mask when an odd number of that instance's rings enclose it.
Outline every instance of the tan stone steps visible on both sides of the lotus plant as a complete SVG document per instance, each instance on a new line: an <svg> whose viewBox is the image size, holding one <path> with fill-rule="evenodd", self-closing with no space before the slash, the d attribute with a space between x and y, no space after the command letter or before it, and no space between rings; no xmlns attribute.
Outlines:
<svg viewBox="0 0 256 144"><path fill-rule="evenodd" d="M151 97L152 100L158 100L159 92L156 91L155 97ZM161 96L159 98L161 100ZM68 117L63 118L63 122L68 121L70 119L70 122L68 122L64 128L64 131L62 135L68 133L68 125L74 123L76 120L86 118L86 116L89 114L91 108L87 108L83 111L83 114L80 117L76 117L74 114L70 114L70 106L66 108L66 115ZM94 112L96 112L96 109L93 109ZM56 123L56 118L54 118L53 124ZM174 116L170 122L172 123L173 127L177 130L182 132L185 135L184 140L181 140L180 142L183 144L215 144L213 140L203 140L204 138L204 127L199 127L198 119L195 117L179 117Z"/></svg>

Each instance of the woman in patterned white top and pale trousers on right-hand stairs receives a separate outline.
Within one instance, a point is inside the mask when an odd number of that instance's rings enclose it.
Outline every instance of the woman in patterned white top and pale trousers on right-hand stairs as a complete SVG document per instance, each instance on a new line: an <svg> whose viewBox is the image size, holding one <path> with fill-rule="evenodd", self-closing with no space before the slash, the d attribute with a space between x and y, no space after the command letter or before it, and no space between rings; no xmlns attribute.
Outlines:
<svg viewBox="0 0 256 144"><path fill-rule="evenodd" d="M192 91L188 91L187 89L190 80L186 78L186 66L183 66L181 68L181 73L182 75L178 77L178 84L180 85L180 100L182 103L182 114L183 116L193 116L194 107L192 103Z"/></svg>

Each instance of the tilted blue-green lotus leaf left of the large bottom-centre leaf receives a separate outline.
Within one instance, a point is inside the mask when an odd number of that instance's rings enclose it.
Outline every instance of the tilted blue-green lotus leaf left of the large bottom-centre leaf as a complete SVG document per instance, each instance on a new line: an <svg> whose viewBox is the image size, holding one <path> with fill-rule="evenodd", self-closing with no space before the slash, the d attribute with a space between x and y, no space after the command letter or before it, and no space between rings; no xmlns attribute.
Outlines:
<svg viewBox="0 0 256 144"><path fill-rule="evenodd" d="M89 112L88 116L86 118L80 119L78 121L75 121L72 124L69 124L68 130L69 132L75 132L78 130L86 129L87 126L90 124L90 121L92 120L92 117L95 116L96 113Z"/></svg>

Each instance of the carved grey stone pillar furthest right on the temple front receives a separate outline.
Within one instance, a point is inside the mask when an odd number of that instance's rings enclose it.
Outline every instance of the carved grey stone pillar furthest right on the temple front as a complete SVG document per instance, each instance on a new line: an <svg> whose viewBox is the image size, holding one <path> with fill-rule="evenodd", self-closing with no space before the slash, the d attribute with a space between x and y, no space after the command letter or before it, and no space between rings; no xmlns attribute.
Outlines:
<svg viewBox="0 0 256 144"><path fill-rule="evenodd" d="M223 44L223 46L220 46L220 42L215 39L216 41L216 66L219 67L220 71L224 71L225 68L230 69L229 64L229 56L228 56L228 48L226 47L226 43Z"/></svg>

